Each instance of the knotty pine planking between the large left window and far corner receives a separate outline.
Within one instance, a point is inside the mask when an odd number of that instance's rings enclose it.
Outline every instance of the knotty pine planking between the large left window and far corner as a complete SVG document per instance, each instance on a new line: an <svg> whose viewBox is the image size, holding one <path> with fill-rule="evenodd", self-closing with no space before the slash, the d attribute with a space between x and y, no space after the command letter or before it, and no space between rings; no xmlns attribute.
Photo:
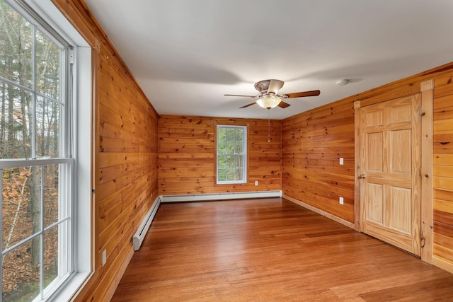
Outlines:
<svg viewBox="0 0 453 302"><path fill-rule="evenodd" d="M101 48L101 54L102 48ZM88 297L110 298L134 252L132 236L157 197L158 116L117 62L100 56L96 150L96 259L102 279Z"/></svg>

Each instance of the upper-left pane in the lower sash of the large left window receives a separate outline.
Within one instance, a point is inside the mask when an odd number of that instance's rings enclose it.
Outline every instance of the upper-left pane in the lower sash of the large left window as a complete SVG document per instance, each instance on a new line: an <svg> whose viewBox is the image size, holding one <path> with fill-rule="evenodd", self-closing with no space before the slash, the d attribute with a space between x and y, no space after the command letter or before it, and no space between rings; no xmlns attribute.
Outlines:
<svg viewBox="0 0 453 302"><path fill-rule="evenodd" d="M3 170L3 250L40 231L40 187L39 166Z"/></svg>

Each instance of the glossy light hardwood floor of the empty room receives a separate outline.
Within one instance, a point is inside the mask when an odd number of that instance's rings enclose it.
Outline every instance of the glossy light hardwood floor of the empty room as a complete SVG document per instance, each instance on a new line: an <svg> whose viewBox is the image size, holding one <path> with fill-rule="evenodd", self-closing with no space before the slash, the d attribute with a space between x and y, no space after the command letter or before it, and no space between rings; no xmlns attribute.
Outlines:
<svg viewBox="0 0 453 302"><path fill-rule="evenodd" d="M453 274L285 199L161 204L112 301L453 301Z"/></svg>

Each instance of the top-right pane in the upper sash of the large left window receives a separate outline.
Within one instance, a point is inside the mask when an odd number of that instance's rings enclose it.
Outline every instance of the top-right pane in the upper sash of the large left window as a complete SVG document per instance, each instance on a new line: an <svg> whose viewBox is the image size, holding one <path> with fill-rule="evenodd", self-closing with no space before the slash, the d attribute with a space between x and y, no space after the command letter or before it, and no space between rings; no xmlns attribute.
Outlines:
<svg viewBox="0 0 453 302"><path fill-rule="evenodd" d="M40 30L36 30L36 90L60 99L61 50Z"/></svg>

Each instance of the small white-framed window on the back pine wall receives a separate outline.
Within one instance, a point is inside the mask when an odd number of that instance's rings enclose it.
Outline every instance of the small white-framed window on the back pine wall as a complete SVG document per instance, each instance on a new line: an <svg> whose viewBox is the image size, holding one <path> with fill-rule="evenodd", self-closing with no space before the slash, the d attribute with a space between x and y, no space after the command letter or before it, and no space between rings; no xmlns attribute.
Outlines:
<svg viewBox="0 0 453 302"><path fill-rule="evenodd" d="M247 128L217 126L217 184L247 182Z"/></svg>

